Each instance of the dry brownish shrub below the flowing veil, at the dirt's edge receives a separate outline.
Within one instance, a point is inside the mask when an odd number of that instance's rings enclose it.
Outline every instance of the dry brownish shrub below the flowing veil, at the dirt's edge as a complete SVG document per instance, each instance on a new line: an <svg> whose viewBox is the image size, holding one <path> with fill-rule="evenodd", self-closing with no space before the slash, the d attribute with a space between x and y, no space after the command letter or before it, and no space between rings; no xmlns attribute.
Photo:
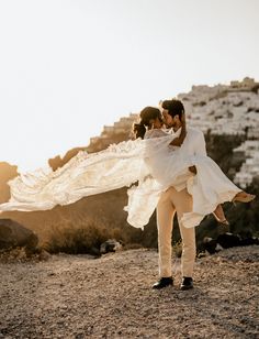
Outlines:
<svg viewBox="0 0 259 339"><path fill-rule="evenodd" d="M124 241L122 231L104 226L95 220L81 219L74 225L67 221L53 227L49 240L44 248L49 253L100 254L100 245L108 239Z"/></svg>

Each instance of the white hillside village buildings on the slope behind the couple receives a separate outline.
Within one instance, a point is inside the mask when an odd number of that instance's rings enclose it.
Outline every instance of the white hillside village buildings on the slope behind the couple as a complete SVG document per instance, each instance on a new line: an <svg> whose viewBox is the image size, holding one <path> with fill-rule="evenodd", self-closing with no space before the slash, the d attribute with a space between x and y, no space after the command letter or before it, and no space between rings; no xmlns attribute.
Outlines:
<svg viewBox="0 0 259 339"><path fill-rule="evenodd" d="M191 127L205 134L244 135L244 143L234 150L243 160L234 182L245 188L259 173L259 83L252 78L232 81L230 85L193 86L188 94L178 95L187 111ZM105 149L114 142L131 136L138 113L121 118L112 127L104 127L100 136L91 138L88 151Z"/></svg>

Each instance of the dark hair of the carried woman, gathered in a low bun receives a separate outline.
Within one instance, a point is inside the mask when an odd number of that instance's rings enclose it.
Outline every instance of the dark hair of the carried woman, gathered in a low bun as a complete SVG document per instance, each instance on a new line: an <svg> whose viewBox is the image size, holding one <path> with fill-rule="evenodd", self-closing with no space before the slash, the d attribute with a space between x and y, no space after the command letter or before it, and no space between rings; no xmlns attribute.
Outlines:
<svg viewBox="0 0 259 339"><path fill-rule="evenodd" d="M140 116L140 122L134 123L133 132L136 138L144 139L147 128L150 127L150 120L153 119L155 120L157 118L161 120L161 112L156 107L147 106L140 111L139 116Z"/></svg>

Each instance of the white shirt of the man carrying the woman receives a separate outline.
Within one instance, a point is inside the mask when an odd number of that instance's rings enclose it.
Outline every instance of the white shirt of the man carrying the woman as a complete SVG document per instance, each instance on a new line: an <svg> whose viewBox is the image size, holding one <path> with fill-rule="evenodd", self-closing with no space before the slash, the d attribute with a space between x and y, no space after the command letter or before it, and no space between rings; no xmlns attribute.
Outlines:
<svg viewBox="0 0 259 339"><path fill-rule="evenodd" d="M176 132L176 136L179 136L181 129ZM193 156L193 164L195 164L195 155L206 155L206 144L203 132L199 129L187 128L187 136L180 147L184 156ZM180 192L184 188L189 188L194 176L188 168L180 176L177 177L173 183L173 187ZM188 189L189 190L189 189Z"/></svg>

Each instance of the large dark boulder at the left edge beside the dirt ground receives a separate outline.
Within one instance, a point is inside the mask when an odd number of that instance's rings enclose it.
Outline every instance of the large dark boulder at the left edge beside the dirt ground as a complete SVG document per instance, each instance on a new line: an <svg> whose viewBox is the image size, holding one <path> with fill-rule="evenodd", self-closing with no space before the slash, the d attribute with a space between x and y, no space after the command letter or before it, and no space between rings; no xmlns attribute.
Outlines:
<svg viewBox="0 0 259 339"><path fill-rule="evenodd" d="M11 219L0 219L0 250L24 247L26 254L34 253L37 236L30 229Z"/></svg>

